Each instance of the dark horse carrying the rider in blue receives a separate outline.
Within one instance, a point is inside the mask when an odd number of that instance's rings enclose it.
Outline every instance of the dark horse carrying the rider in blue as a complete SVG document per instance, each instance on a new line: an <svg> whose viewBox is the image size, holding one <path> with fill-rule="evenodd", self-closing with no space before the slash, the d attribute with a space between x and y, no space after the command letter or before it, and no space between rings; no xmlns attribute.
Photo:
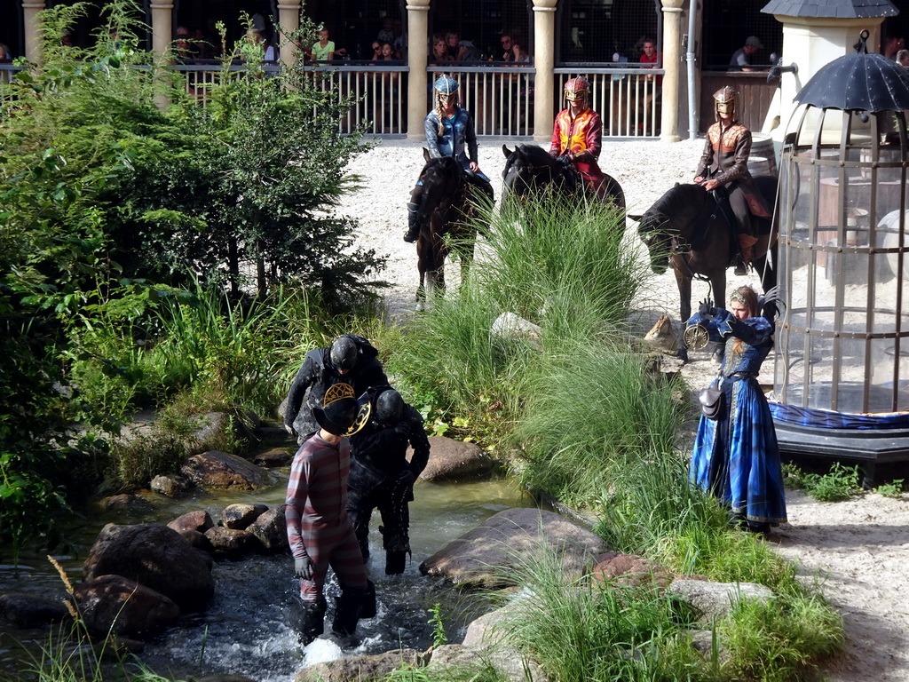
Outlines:
<svg viewBox="0 0 909 682"><path fill-rule="evenodd" d="M476 234L471 224L479 216L472 196L483 194L451 156L431 158L426 149L423 155L426 160L420 172L423 194L416 213L420 227L416 239L416 264L420 272L417 310L424 309L427 297L434 296L436 289L445 289L445 257L453 246L461 258L462 277L466 273L473 259Z"/></svg>

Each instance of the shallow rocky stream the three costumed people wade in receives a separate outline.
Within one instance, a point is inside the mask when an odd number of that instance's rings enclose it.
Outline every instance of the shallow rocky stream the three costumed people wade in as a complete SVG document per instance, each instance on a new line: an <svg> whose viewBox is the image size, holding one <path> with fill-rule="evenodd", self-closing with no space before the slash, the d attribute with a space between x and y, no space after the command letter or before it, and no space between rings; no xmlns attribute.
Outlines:
<svg viewBox="0 0 909 682"><path fill-rule="evenodd" d="M69 577L78 581L85 554L105 523L167 523L199 508L207 510L216 523L221 509L235 502L283 504L287 469L279 470L278 474L280 479L275 486L255 493L198 492L178 500L152 494L147 497L152 507L148 511L104 512L85 518L71 529L78 551L56 558ZM340 641L326 635L305 650L298 645L285 614L298 588L289 555L217 559L213 569L215 597L209 607L202 613L181 617L174 627L148 642L139 657L168 677L233 673L258 682L290 682L296 670L317 662L398 647L418 650L429 647L433 643L429 609L435 604L442 607L449 639L458 641L463 635L460 627L471 615L472 600L437 578L421 576L420 563L497 512L534 506L534 501L522 495L509 480L450 484L418 481L415 497L411 503L413 558L403 576L385 576L385 555L377 531L378 514L374 515L370 526L372 556L367 568L376 586L378 615L361 621L353 640ZM0 565L0 592L7 591L65 596L60 577L43 556L23 557L18 571ZM333 580L329 594L336 593ZM333 601L329 598L326 632L331 627ZM47 633L45 629L5 627L0 621L0 670L20 669L23 645L36 654Z"/></svg>

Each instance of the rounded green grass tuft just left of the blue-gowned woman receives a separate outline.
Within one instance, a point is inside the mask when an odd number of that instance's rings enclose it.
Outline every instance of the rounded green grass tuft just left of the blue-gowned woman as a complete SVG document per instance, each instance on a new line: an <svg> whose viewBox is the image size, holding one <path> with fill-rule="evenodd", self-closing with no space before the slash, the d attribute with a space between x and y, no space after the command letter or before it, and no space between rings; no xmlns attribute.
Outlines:
<svg viewBox="0 0 909 682"><path fill-rule="evenodd" d="M526 485L593 505L623 483L637 486L644 463L673 452L684 406L644 357L600 337L577 339L542 364L513 434Z"/></svg>

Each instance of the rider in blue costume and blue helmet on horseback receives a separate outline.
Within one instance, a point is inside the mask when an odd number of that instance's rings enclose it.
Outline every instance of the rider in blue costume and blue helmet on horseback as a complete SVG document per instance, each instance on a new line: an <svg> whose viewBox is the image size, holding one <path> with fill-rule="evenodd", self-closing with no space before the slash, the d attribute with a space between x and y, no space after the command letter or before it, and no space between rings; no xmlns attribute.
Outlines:
<svg viewBox="0 0 909 682"><path fill-rule="evenodd" d="M480 171L476 161L476 130L474 116L458 105L457 81L450 75L440 75L435 79L435 109L424 119L426 145L432 158L454 156L465 171L469 181L494 201L493 186L489 178ZM420 197L423 195L423 182L417 180L414 191L407 204L407 233L405 242L413 243L420 233L416 224L417 211L420 208Z"/></svg>

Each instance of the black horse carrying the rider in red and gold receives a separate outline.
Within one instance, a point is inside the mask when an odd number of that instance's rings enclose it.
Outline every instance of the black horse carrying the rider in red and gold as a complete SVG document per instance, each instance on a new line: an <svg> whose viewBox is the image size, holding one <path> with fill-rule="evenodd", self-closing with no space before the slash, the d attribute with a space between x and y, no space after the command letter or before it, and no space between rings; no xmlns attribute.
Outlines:
<svg viewBox="0 0 909 682"><path fill-rule="evenodd" d="M556 158L538 145L518 145L514 150L502 145L505 167L502 171L504 196L541 195L555 191L572 195L586 189L584 180L567 159ZM605 176L604 202L611 202L624 211L625 200L622 187L610 176Z"/></svg>

